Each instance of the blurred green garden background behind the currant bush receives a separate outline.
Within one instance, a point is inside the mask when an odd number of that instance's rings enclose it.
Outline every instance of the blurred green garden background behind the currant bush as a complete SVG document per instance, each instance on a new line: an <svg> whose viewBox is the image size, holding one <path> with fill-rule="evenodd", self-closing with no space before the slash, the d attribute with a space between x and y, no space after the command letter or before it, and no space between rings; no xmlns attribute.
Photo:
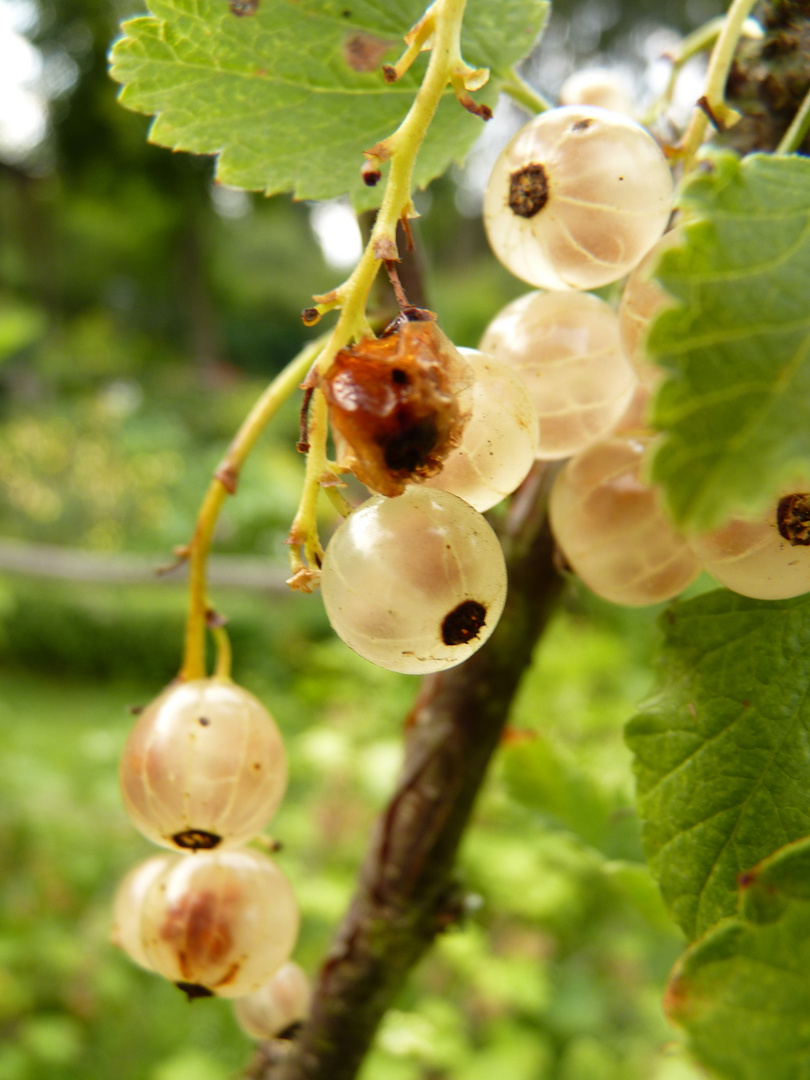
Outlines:
<svg viewBox="0 0 810 1080"><path fill-rule="evenodd" d="M721 8L561 2L526 77L553 97L577 68L620 68L642 108L666 81L662 52ZM148 145L148 120L106 73L120 18L137 13L0 0L0 1080L224 1080L249 1057L227 1002L189 1004L108 942L118 880L153 853L120 808L117 762L130 706L179 662L181 577L153 569L311 335L301 308L360 251L340 202L222 188L210 160ZM502 103L469 166L417 200L428 301L459 345L523 291L478 218L519 123ZM227 508L216 550L231 584L215 598L234 676L287 741L273 833L312 970L416 684L350 653L316 595L280 586L302 475L296 408ZM680 941L642 863L621 741L651 685L654 615L567 595L464 846L468 917L388 1016L365 1080L697 1077L661 1017Z"/></svg>

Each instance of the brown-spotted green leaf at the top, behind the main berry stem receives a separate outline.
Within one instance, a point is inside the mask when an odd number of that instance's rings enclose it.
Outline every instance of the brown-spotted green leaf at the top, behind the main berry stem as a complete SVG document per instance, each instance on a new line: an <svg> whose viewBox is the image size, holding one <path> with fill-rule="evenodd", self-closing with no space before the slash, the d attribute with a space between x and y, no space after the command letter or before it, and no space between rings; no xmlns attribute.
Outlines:
<svg viewBox="0 0 810 1080"><path fill-rule="evenodd" d="M404 50L424 0L259 0L237 17L227 0L149 0L152 16L123 26L112 78L123 105L154 113L150 139L217 154L217 179L299 199L349 193L376 206L382 185L363 185L362 151L405 117L427 59L387 85L379 71ZM542 0L470 0L462 49L491 78L475 99L495 104L512 65L542 27ZM351 63L350 63L351 59ZM357 67L373 70L356 70ZM482 130L447 91L415 171L424 187L464 157Z"/></svg>

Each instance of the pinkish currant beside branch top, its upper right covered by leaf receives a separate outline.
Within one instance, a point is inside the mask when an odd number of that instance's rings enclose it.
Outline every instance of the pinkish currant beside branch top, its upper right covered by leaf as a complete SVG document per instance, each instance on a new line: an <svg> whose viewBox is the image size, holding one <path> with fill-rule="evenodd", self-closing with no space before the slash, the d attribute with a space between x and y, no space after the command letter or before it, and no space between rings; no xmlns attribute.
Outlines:
<svg viewBox="0 0 810 1080"><path fill-rule="evenodd" d="M616 436L571 458L549 503L552 531L573 571L597 596L642 606L671 599L700 564L640 476L649 438Z"/></svg>

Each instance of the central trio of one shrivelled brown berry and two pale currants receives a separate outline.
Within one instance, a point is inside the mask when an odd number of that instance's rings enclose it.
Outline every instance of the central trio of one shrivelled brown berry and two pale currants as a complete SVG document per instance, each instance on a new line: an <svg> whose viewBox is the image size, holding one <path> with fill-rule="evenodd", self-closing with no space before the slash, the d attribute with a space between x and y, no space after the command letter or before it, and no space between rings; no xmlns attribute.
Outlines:
<svg viewBox="0 0 810 1080"><path fill-rule="evenodd" d="M525 382L502 361L456 349L417 312L338 353L322 387L341 467L376 492L326 548L333 627L389 671L461 663L505 600L503 554L482 512L535 461Z"/></svg>

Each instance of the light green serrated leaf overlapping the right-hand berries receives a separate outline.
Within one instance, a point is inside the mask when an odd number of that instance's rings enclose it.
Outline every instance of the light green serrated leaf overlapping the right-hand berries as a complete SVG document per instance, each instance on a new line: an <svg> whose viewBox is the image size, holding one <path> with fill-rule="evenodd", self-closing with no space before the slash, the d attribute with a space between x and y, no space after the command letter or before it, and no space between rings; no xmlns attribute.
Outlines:
<svg viewBox="0 0 810 1080"><path fill-rule="evenodd" d="M673 376L651 475L675 521L704 530L810 472L810 159L716 152L678 204L697 220L658 274L680 302L650 330Z"/></svg>

